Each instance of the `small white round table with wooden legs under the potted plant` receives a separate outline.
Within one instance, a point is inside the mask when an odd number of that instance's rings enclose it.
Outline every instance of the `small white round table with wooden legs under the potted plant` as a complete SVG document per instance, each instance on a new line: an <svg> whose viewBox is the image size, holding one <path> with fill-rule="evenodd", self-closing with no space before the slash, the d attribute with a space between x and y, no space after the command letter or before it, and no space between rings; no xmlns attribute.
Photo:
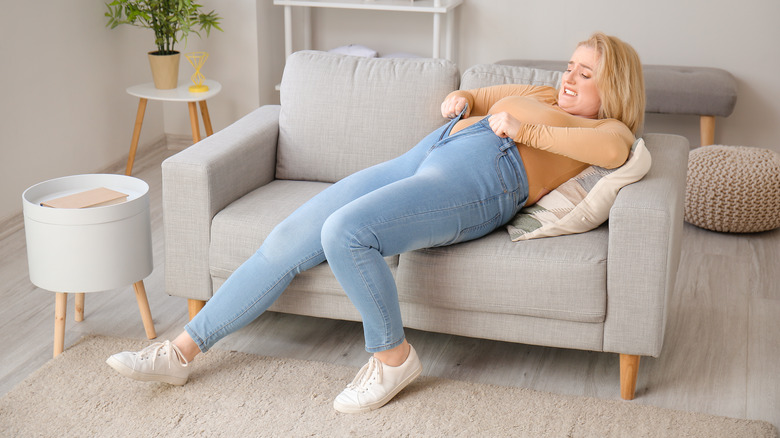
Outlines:
<svg viewBox="0 0 780 438"><path fill-rule="evenodd" d="M190 109L190 125L192 127L192 141L197 143L201 140L200 137L200 125L198 123L198 109L195 106L195 102L200 105L200 113L203 118L203 127L206 130L206 137L213 134L214 131L211 128L211 118L209 116L209 109L206 105L206 100L212 96L215 96L222 90L222 84L219 82L206 79L203 85L209 87L208 91L199 93L193 93L189 91L191 83L179 85L177 88L171 90L160 90L154 87L153 82L133 85L127 88L127 94L138 97L138 113L135 116L135 127L133 128L133 138L130 142L130 154L127 157L127 168L125 169L125 175L131 175L133 173L133 162L135 161L135 152L138 149L138 139L141 136L141 125L144 122L144 113L146 112L146 103L149 100L161 100L167 102L187 102L187 106Z"/></svg>

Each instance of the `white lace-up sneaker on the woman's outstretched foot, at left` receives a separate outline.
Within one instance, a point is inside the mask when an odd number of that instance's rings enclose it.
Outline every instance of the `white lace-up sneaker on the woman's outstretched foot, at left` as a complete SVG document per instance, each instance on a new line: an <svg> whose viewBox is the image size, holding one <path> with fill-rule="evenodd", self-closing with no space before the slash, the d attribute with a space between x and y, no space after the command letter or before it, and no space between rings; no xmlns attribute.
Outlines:
<svg viewBox="0 0 780 438"><path fill-rule="evenodd" d="M123 351L106 360L119 374L145 382L184 385L190 375L187 359L171 341L156 342L141 351Z"/></svg>

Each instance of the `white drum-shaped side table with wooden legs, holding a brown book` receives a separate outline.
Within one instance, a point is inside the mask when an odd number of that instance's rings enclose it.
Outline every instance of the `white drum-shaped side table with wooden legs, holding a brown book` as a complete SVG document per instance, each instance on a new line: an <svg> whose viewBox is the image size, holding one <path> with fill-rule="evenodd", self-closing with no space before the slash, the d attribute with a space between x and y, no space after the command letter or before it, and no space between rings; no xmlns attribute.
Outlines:
<svg viewBox="0 0 780 438"><path fill-rule="evenodd" d="M42 203L105 187L128 195L113 205L52 208ZM84 293L132 284L146 335L154 339L143 279L152 273L149 185L125 175L74 175L36 184L22 194L30 281L56 292L54 356L65 344L67 294L76 293L76 321Z"/></svg>

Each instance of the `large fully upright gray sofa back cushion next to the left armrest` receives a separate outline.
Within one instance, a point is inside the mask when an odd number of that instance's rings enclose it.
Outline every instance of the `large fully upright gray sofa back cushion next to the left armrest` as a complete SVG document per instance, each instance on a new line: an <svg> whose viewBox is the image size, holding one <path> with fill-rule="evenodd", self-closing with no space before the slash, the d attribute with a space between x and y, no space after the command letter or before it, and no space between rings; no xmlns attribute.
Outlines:
<svg viewBox="0 0 780 438"><path fill-rule="evenodd" d="M458 82L444 59L293 53L280 89L276 177L335 182L403 154L446 122L440 105Z"/></svg>

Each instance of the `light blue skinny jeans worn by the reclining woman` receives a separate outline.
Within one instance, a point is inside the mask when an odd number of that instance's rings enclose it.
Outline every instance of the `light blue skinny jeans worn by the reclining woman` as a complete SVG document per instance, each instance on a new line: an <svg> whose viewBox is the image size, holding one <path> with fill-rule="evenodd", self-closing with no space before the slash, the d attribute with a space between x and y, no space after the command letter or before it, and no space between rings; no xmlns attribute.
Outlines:
<svg viewBox="0 0 780 438"><path fill-rule="evenodd" d="M384 257L482 237L528 198L514 142L460 117L407 153L329 186L282 221L185 327L205 352L265 312L296 274L328 261L363 319L366 351L404 340Z"/></svg>

